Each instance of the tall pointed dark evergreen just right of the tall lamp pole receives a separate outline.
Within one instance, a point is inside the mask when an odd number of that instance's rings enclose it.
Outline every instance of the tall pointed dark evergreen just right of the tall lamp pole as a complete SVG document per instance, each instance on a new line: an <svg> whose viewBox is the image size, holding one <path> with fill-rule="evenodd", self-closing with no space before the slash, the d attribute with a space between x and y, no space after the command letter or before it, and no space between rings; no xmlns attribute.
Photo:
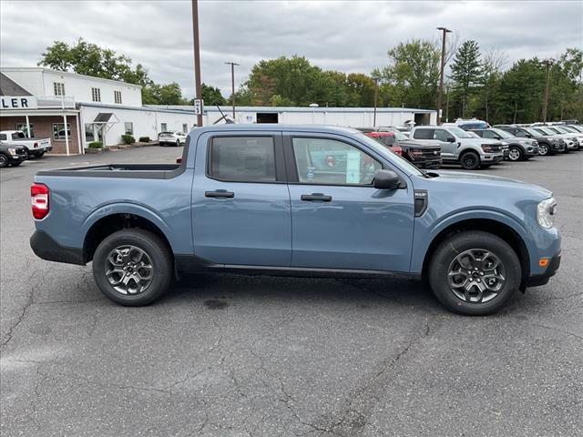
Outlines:
<svg viewBox="0 0 583 437"><path fill-rule="evenodd" d="M473 39L465 41L457 49L454 63L452 64L451 78L454 81L454 89L461 97L461 116L465 117L468 96L483 83L481 75L480 47Z"/></svg>

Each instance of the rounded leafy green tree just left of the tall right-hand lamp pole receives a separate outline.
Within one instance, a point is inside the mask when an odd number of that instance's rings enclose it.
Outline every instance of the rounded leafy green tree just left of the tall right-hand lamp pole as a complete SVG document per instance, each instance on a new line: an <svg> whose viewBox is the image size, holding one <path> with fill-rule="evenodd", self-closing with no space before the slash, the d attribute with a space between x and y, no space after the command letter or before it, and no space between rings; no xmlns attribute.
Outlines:
<svg viewBox="0 0 583 437"><path fill-rule="evenodd" d="M414 39L389 49L389 65L380 71L383 91L391 90L399 106L435 107L440 51L435 43Z"/></svg>

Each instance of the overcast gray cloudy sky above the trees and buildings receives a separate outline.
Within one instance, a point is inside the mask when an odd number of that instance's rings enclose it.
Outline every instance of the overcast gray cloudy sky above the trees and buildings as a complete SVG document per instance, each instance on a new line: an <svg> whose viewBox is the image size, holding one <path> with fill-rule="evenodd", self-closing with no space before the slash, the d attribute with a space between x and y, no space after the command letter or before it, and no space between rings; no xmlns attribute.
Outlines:
<svg viewBox="0 0 583 437"><path fill-rule="evenodd" d="M156 82L178 82L192 97L190 1L0 1L0 64L36 66L55 40L79 36L141 63ZM230 94L259 60L294 54L324 69L370 74L389 47L437 38L436 26L460 41L521 57L557 56L583 46L583 2L300 2L199 1L202 81Z"/></svg>

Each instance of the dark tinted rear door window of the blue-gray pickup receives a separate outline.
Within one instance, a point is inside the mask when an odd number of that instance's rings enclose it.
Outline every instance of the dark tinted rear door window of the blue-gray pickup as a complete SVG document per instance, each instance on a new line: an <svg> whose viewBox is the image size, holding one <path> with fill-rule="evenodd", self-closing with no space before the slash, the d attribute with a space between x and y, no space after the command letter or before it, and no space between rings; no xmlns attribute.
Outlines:
<svg viewBox="0 0 583 437"><path fill-rule="evenodd" d="M209 173L233 182L275 182L273 138L212 138Z"/></svg>

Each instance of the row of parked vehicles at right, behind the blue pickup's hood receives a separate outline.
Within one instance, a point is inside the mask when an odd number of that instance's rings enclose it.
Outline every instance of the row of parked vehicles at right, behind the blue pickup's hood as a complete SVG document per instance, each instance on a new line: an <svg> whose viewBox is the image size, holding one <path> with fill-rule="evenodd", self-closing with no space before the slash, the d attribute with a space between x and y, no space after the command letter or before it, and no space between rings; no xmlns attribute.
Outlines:
<svg viewBox="0 0 583 437"><path fill-rule="evenodd" d="M418 168L459 164L467 170L488 168L503 159L526 161L535 156L583 149L583 127L577 120L532 125L495 125L457 120L441 126L359 127Z"/></svg>

